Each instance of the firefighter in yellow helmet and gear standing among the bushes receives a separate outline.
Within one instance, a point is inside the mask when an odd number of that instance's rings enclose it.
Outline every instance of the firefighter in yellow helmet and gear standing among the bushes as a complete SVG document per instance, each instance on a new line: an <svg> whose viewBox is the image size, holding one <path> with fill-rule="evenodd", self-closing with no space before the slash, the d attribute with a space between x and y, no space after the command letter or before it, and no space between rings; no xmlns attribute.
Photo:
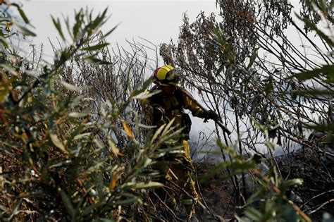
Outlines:
<svg viewBox="0 0 334 222"><path fill-rule="evenodd" d="M181 194L180 199L183 202L188 216L194 214L194 204L197 203L198 195L194 185L191 173L194 171L192 159L190 158L190 149L187 140L191 127L191 120L185 109L192 112L192 116L204 119L218 120L218 115L214 111L201 109L198 102L182 87L178 86L180 75L173 66L161 66L154 71L153 82L155 86L150 90L161 92L145 99L141 102L142 109L149 112L151 125L159 126L169 123L173 118L175 129L183 129L183 136L180 138L180 144L183 144L183 152L169 154L162 161L158 161L157 168L163 174L166 180L175 181L189 195ZM173 164L170 164L173 163ZM175 193L169 195L170 206L176 206Z"/></svg>

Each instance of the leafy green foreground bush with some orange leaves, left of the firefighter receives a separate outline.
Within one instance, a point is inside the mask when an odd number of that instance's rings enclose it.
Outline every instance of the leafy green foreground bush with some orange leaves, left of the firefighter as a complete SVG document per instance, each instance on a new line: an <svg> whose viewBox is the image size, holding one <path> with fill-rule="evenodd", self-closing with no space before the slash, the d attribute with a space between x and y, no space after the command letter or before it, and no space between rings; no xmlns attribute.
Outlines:
<svg viewBox="0 0 334 222"><path fill-rule="evenodd" d="M18 10L27 23L22 9ZM6 13L3 26L13 20ZM61 23L52 19L67 44ZM66 19L72 42L56 51L51 66L35 70L9 43L14 31L1 30L1 221L147 220L156 215L154 209L147 210L144 199L147 189L162 185L152 181L156 173L149 166L156 156L173 150L178 135L171 134L170 125L163 125L161 135L138 142L132 129L140 130L139 123L129 118L138 116L128 105L150 80L129 88L128 99L105 99L92 110L92 99L82 96L89 87L66 82L62 75L71 60L109 64L97 58L97 51L107 44L92 44L106 19L106 11L93 16L82 10L75 13L73 28ZM159 150L164 143L170 149Z"/></svg>

